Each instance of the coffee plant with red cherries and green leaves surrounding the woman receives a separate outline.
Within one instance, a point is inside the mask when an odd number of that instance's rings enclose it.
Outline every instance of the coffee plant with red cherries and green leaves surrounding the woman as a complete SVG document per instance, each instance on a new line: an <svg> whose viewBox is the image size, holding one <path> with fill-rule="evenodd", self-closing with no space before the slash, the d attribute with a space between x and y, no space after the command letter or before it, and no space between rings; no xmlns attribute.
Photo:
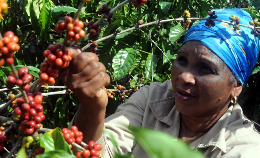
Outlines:
<svg viewBox="0 0 260 158"><path fill-rule="evenodd" d="M249 12L254 21L247 26L236 15L227 24L234 31L249 27L258 36L260 5L253 0L0 0L0 157L102 157L102 145L83 142L76 126L67 128L79 105L58 73L72 61L68 48L96 53L106 66L109 116L140 87L170 79L186 31L197 20L214 27L217 16L209 10L223 7ZM239 100L256 125L259 71L257 63ZM144 149L154 151L152 157L165 157L165 148L173 149L168 157L180 151L201 157L164 133L130 130Z"/></svg>

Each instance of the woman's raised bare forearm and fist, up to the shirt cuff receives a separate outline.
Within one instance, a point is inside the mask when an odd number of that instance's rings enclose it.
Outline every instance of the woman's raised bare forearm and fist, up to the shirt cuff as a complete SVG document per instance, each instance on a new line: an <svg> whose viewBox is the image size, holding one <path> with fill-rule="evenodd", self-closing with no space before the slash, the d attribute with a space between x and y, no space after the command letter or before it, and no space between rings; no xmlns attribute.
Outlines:
<svg viewBox="0 0 260 158"><path fill-rule="evenodd" d="M73 125L84 133L83 141L97 141L104 128L108 102L105 86L109 85L110 77L96 54L75 48L68 50L72 52L72 61L59 72L64 84L80 100Z"/></svg>

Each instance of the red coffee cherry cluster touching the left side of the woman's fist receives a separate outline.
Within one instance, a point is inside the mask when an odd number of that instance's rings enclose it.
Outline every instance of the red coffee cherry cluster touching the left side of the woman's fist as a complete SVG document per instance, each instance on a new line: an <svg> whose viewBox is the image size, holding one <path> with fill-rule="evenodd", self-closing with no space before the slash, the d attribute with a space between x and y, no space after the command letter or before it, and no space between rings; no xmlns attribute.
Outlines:
<svg viewBox="0 0 260 158"><path fill-rule="evenodd" d="M40 65L39 83L41 85L46 83L54 85L55 79L59 76L55 69L69 66L72 60L72 53L66 48L62 50L61 44L50 44L47 50L43 52L43 56L47 59Z"/></svg>

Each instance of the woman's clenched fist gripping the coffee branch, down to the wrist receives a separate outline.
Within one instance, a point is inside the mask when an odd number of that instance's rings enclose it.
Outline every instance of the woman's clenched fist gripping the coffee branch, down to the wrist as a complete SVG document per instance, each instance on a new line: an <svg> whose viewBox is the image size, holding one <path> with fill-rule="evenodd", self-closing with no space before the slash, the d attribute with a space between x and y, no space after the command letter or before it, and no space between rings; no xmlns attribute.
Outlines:
<svg viewBox="0 0 260 158"><path fill-rule="evenodd" d="M104 109L108 101L105 86L110 83L105 66L94 53L68 49L72 52L73 60L65 70L59 70L62 81L73 91L81 105L87 105L88 108L94 106L96 110Z"/></svg>

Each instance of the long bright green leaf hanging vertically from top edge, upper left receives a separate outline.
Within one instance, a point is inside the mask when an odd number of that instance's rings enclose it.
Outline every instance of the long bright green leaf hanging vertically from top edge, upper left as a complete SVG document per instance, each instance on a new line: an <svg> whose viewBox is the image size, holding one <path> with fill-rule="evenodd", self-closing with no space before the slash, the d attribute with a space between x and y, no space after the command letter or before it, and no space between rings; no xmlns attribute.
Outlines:
<svg viewBox="0 0 260 158"><path fill-rule="evenodd" d="M45 2L46 1L46 2ZM41 9L41 13L39 16L39 25L41 26L41 32L40 32L40 40L41 41L49 41L50 34L50 24L51 24L51 4L48 2L48 0L43 0L43 8Z"/></svg>

